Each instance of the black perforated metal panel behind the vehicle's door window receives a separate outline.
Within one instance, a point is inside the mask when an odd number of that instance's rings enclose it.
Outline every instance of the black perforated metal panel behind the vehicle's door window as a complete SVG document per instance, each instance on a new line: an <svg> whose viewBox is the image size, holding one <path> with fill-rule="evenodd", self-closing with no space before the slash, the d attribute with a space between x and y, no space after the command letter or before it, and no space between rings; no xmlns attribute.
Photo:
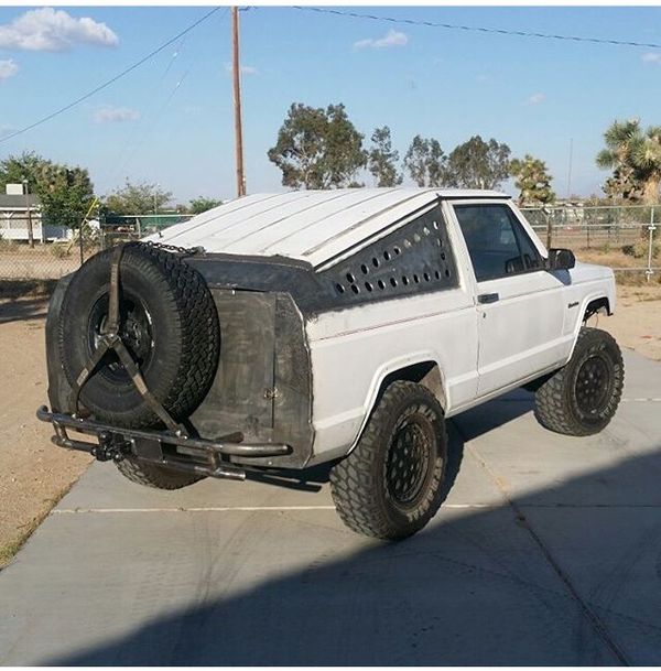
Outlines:
<svg viewBox="0 0 661 671"><path fill-rule="evenodd" d="M323 273L338 303L383 300L458 285L454 255L438 207Z"/></svg>

